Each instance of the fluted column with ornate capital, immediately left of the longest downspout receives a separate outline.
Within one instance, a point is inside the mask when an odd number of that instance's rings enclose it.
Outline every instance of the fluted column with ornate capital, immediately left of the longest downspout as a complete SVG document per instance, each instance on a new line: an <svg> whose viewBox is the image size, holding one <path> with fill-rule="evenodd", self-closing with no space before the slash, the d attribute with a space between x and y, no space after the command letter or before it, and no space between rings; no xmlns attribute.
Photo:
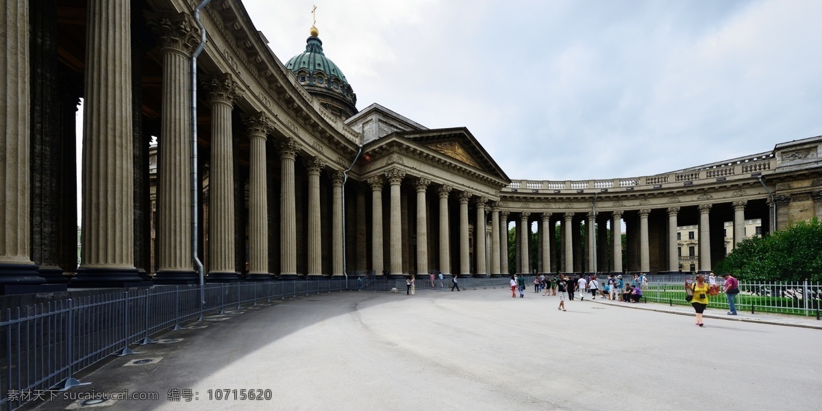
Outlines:
<svg viewBox="0 0 822 411"><path fill-rule="evenodd" d="M163 101L157 139L156 284L195 282L192 261L192 53L200 36L188 16L150 22L163 54Z"/></svg>

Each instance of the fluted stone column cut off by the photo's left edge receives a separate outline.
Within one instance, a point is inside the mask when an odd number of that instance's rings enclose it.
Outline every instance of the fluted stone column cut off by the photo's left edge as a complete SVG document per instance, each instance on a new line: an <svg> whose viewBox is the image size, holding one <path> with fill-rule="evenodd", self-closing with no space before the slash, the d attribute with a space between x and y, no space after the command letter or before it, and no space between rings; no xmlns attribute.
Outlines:
<svg viewBox="0 0 822 411"><path fill-rule="evenodd" d="M30 256L29 2L0 0L0 289L44 284ZM136 277L136 274L135 274Z"/></svg>

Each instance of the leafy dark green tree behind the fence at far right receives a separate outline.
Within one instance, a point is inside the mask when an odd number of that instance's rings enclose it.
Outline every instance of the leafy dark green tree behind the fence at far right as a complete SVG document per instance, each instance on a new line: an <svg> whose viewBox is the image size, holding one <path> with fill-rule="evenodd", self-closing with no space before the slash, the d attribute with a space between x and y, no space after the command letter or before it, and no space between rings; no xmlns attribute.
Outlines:
<svg viewBox="0 0 822 411"><path fill-rule="evenodd" d="M773 235L747 238L716 271L748 281L822 281L822 223L812 219Z"/></svg>

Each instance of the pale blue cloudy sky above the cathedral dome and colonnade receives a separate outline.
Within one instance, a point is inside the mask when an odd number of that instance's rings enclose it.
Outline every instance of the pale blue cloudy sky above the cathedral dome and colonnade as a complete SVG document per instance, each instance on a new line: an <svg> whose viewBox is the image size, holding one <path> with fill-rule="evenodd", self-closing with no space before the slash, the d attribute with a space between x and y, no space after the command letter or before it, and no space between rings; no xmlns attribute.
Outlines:
<svg viewBox="0 0 822 411"><path fill-rule="evenodd" d="M511 179L629 178L822 135L822 2L243 0L358 109L468 127Z"/></svg>

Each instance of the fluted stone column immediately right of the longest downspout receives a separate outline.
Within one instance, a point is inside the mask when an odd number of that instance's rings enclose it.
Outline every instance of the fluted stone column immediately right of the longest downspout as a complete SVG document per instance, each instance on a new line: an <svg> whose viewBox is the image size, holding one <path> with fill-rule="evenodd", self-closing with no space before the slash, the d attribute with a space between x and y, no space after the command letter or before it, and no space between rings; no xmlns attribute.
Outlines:
<svg viewBox="0 0 822 411"><path fill-rule="evenodd" d="M206 81L211 106L211 167L209 169L209 281L239 279L234 236L234 155L231 113L238 97L230 76Z"/></svg>

